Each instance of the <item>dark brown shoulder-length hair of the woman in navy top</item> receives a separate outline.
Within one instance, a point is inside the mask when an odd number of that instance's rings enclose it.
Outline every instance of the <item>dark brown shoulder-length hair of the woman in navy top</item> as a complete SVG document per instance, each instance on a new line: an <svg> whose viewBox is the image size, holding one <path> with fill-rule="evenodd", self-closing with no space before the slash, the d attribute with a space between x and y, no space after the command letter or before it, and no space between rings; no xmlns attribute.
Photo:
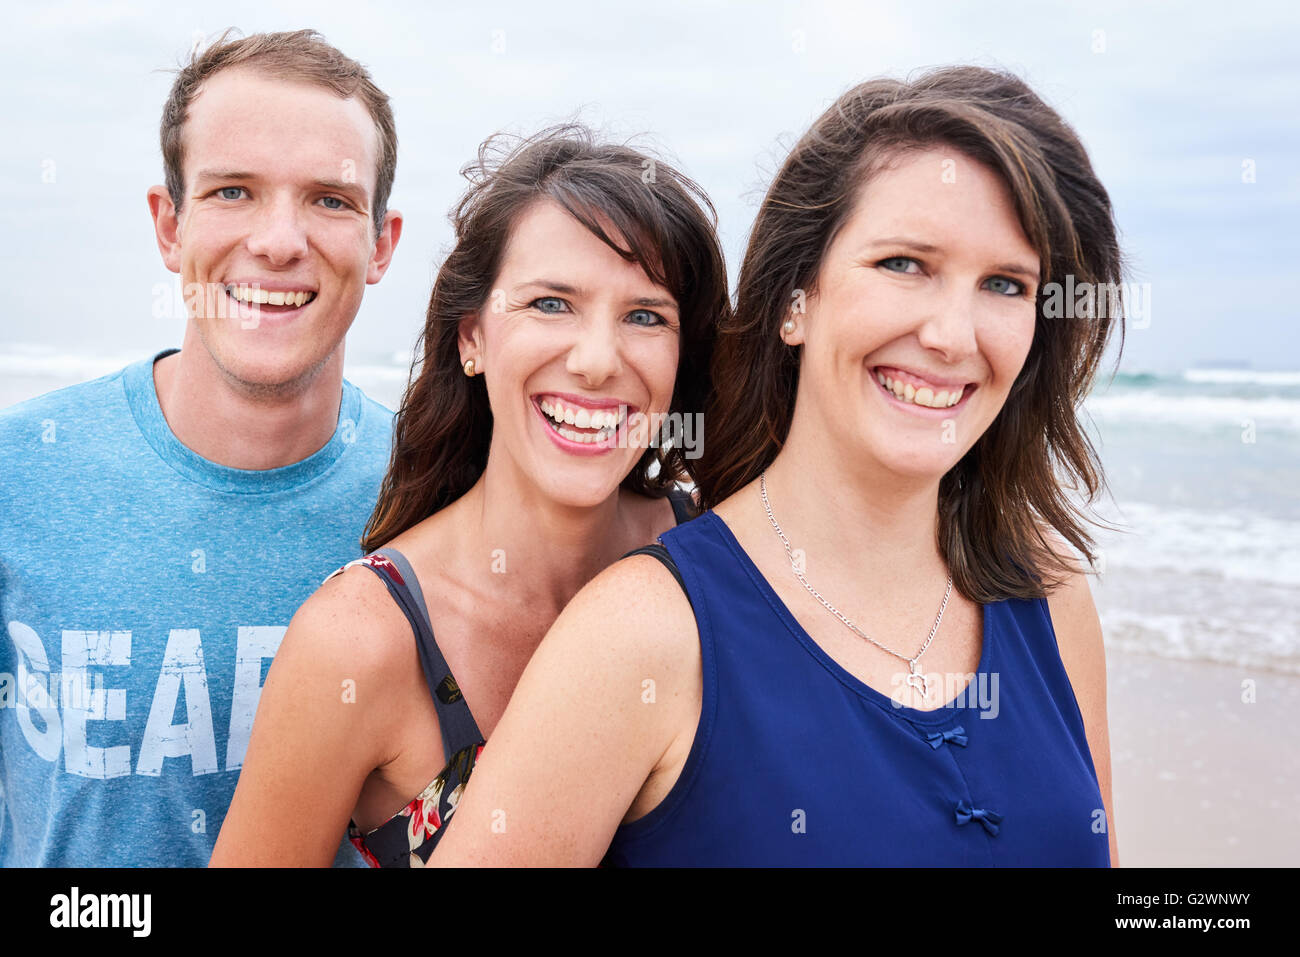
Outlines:
<svg viewBox="0 0 1300 957"><path fill-rule="evenodd" d="M1058 584L1045 573L1067 570L1045 528L1093 560L1092 520L1063 488L1082 486L1088 503L1105 488L1076 407L1117 324L1123 343L1122 308L1048 319L1044 286L1072 276L1076 287L1118 291L1123 264L1110 198L1079 138L1011 74L949 66L913 82L862 83L794 146L750 234L736 311L719 328L716 394L705 415L715 454L696 463L696 481L712 507L776 458L800 373L800 352L779 335L792 296L815 291L823 256L867 179L900 151L930 146L1001 174L1043 270L1024 368L993 424L940 480L939 547L971 601L1039 597Z"/></svg>

